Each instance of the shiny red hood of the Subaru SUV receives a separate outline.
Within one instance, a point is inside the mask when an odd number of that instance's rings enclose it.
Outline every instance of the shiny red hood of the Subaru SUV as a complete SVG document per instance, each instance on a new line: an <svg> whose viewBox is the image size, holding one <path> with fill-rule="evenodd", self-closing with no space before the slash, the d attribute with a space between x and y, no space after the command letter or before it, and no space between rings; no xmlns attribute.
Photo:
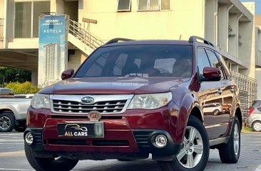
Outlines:
<svg viewBox="0 0 261 171"><path fill-rule="evenodd" d="M66 79L42 89L43 94L145 94L168 92L188 82L175 77L84 77Z"/></svg>

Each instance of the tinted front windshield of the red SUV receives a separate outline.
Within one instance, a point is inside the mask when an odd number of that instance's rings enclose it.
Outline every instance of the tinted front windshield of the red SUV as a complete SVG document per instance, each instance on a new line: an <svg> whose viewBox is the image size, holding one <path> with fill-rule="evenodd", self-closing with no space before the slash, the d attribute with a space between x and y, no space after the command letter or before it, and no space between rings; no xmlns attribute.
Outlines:
<svg viewBox="0 0 261 171"><path fill-rule="evenodd" d="M96 50L75 77L190 77L190 45L121 45Z"/></svg>

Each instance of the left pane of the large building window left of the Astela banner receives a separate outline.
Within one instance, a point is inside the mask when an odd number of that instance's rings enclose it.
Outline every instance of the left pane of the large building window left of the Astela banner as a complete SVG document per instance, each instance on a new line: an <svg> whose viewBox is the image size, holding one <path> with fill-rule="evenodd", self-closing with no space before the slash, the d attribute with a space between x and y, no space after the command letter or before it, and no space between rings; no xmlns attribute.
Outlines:
<svg viewBox="0 0 261 171"><path fill-rule="evenodd" d="M15 3L14 38L31 37L31 2Z"/></svg>

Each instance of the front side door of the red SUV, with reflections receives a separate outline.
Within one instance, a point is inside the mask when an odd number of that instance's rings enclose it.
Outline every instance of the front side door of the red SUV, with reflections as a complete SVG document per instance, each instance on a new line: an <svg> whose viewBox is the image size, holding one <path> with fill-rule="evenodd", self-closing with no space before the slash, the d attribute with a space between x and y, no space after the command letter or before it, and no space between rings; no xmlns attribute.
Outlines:
<svg viewBox="0 0 261 171"><path fill-rule="evenodd" d="M215 55L213 53L213 55ZM203 75L204 67L213 67L205 48L198 48L198 72ZM216 58L217 59L217 58ZM217 59L218 60L218 59ZM225 127L220 125L222 114L222 92L224 91L220 81L201 82L198 99L204 115L204 126L210 139L218 138L225 132Z"/></svg>

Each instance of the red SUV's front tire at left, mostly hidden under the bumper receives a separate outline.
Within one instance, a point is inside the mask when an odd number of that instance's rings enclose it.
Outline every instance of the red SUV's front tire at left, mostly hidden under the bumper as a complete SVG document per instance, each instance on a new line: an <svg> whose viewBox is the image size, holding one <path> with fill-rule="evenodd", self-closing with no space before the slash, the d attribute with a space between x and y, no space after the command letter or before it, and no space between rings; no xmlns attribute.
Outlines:
<svg viewBox="0 0 261 171"><path fill-rule="evenodd" d="M78 163L78 160L71 160L68 158L36 158L29 145L24 142L24 150L26 158L31 167L36 171L69 171L72 170Z"/></svg>

